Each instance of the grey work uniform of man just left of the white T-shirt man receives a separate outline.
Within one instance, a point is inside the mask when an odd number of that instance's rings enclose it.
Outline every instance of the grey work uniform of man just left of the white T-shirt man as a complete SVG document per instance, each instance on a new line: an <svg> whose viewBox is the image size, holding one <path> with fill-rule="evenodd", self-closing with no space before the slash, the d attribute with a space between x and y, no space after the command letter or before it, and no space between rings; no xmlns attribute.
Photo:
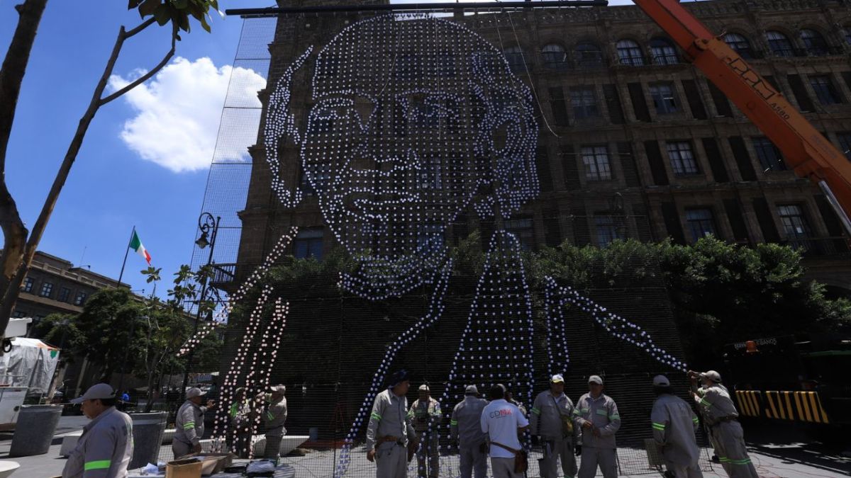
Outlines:
<svg viewBox="0 0 851 478"><path fill-rule="evenodd" d="M452 410L449 422L449 434L458 441L461 478L476 478L488 475L488 452L483 445L488 439L482 431L482 410L488 401L473 395L466 395Z"/></svg>

